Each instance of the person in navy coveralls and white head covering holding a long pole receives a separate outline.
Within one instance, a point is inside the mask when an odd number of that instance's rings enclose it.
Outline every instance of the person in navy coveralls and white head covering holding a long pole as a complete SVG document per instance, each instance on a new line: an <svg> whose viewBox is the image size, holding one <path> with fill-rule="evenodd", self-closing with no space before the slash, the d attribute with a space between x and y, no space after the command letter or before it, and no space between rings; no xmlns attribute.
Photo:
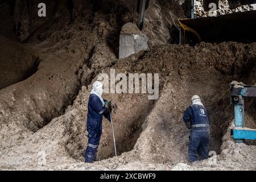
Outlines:
<svg viewBox="0 0 256 182"><path fill-rule="evenodd" d="M102 115L110 121L111 107L114 102L104 100L101 97L102 93L102 83L100 81L95 81L93 83L88 101L88 114L86 122L86 130L88 131L88 146L84 155L85 163L92 163L96 161L98 145L100 144L102 134Z"/></svg>

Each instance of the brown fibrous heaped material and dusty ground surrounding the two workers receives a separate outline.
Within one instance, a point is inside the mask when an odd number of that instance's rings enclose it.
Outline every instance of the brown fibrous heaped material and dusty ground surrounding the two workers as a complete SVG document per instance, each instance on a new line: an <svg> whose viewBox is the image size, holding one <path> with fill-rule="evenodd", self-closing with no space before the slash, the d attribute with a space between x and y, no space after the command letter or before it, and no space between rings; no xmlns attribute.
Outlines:
<svg viewBox="0 0 256 182"><path fill-rule="evenodd" d="M118 35L122 25L130 22L133 6L127 1L121 5L104 1L101 6L91 9L86 1L77 3L71 22L67 18L63 28L49 28L23 44L39 63L26 80L0 90L0 168L256 169L254 143L234 143L228 129L233 121L229 83L255 84L256 44L168 44L176 39L170 33L177 28L179 8L167 1L152 1L143 30L150 39L150 51L118 60ZM35 41L42 36L46 40ZM118 156L113 157L112 130L104 119L100 161L85 164L90 88L99 73L109 74L110 69L126 75L160 73L159 98L150 101L147 94L104 94L118 105L113 115ZM193 94L199 94L209 110L210 149L218 154L217 163L211 163L213 158L193 166L188 163L188 134L181 117ZM250 127L255 127L255 104L255 99L246 100ZM38 162L44 153L46 165L42 166Z"/></svg>

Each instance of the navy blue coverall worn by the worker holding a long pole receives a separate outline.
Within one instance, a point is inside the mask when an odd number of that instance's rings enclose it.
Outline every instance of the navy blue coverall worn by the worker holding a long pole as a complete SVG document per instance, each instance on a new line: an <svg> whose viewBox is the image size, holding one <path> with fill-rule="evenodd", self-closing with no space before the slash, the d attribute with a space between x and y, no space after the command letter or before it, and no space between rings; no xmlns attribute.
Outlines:
<svg viewBox="0 0 256 182"><path fill-rule="evenodd" d="M107 102L104 100L104 102ZM88 102L88 114L86 122L86 130L88 131L88 146L85 150L85 162L93 162L96 160L98 145L102 134L102 115L110 121L110 113L103 106L100 98L95 94L90 94Z"/></svg>

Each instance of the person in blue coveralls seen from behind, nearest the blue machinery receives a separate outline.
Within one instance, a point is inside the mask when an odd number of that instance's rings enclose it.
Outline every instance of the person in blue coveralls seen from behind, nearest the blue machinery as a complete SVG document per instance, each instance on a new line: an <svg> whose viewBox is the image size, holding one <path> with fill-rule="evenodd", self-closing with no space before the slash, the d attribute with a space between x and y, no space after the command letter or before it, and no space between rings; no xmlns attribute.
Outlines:
<svg viewBox="0 0 256 182"><path fill-rule="evenodd" d="M188 107L183 115L183 121L190 131L188 143L188 157L191 163L198 161L197 152L201 159L208 159L209 154L209 114L202 104L200 97L192 97L192 105Z"/></svg>

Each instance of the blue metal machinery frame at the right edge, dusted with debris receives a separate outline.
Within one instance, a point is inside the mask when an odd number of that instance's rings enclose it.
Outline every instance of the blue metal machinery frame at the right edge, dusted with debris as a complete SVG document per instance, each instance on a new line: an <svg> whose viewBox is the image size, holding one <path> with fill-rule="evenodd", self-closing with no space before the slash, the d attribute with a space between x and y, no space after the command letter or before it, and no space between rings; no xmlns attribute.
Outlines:
<svg viewBox="0 0 256 182"><path fill-rule="evenodd" d="M242 143L245 139L256 140L256 129L244 128L245 104L243 100L243 97L256 97L256 86L243 85L237 82L232 82L230 86L230 99L234 106L233 138L238 143Z"/></svg>

